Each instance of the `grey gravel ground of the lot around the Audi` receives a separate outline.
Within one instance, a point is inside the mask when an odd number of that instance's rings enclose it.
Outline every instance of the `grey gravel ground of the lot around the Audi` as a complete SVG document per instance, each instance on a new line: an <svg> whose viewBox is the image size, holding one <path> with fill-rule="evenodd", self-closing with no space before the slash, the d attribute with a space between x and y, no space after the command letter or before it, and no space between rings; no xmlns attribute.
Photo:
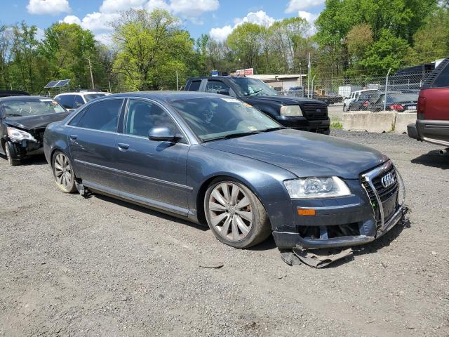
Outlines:
<svg viewBox="0 0 449 337"><path fill-rule="evenodd" d="M62 194L44 159L0 159L0 335L449 336L449 157L333 134L394 160L410 225L323 270L289 267L272 239L232 249L161 213Z"/></svg>

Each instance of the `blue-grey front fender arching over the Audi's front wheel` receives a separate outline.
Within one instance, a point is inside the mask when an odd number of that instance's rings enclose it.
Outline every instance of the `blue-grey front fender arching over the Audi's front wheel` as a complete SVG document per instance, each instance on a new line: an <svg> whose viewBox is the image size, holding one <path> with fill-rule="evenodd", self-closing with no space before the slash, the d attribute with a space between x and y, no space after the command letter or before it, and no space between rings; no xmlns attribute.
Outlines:
<svg viewBox="0 0 449 337"><path fill-rule="evenodd" d="M293 224L292 202L283 180L296 178L293 173L278 166L238 154L192 145L187 158L187 185L189 208L196 213L196 201L210 179L228 176L245 184L262 202L273 230ZM203 202L203 201L201 201Z"/></svg>

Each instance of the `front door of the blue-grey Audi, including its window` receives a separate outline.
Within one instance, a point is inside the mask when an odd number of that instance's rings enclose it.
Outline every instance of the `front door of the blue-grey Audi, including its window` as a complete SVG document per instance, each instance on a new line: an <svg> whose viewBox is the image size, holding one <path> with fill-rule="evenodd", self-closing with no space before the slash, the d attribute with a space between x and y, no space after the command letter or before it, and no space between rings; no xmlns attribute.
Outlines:
<svg viewBox="0 0 449 337"><path fill-rule="evenodd" d="M180 129L159 104L130 99L123 121L123 134L116 138L117 167L126 197L175 213L187 214L187 152L184 137L177 143L148 139L151 128Z"/></svg>

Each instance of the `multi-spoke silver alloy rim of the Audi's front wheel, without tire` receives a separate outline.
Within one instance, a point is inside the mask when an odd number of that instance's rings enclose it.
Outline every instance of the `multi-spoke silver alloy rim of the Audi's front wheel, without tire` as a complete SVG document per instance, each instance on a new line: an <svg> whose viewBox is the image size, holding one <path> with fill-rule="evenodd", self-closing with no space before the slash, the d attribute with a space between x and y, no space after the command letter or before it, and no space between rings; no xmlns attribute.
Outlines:
<svg viewBox="0 0 449 337"><path fill-rule="evenodd" d="M253 226L253 209L248 195L234 183L220 183L210 193L210 224L221 237L232 242L244 239Z"/></svg>

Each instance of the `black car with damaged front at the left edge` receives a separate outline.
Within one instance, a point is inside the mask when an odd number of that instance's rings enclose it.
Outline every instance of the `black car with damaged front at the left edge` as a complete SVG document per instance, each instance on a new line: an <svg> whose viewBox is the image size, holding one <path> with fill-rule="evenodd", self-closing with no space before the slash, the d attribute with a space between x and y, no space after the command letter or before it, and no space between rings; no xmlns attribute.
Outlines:
<svg viewBox="0 0 449 337"><path fill-rule="evenodd" d="M55 100L18 95L0 98L0 153L9 164L43 153L43 132L48 124L67 117Z"/></svg>

